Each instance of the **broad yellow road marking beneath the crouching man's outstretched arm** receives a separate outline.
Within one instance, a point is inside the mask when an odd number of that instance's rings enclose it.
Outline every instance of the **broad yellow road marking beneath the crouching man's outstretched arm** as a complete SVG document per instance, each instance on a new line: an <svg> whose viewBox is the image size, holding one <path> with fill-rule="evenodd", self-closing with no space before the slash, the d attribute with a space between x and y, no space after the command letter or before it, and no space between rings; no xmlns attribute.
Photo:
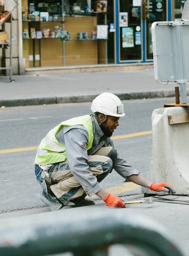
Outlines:
<svg viewBox="0 0 189 256"><path fill-rule="evenodd" d="M116 195L116 194L125 193L126 191L130 191L130 190L138 188L138 187L140 187L140 186L133 182L125 182L125 183L115 186L115 187L106 188L106 191L108 191L109 193L111 193L113 195ZM94 195L91 198L96 198L96 197L97 196Z"/></svg>

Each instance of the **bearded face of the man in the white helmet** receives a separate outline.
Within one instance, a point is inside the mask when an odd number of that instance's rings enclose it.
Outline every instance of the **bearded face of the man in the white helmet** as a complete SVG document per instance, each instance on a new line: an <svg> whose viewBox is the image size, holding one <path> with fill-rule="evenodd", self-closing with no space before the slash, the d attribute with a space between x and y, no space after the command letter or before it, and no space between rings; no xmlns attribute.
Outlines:
<svg viewBox="0 0 189 256"><path fill-rule="evenodd" d="M101 123L101 130L106 136L112 136L113 131L119 126L119 119L120 117L107 116L107 119Z"/></svg>

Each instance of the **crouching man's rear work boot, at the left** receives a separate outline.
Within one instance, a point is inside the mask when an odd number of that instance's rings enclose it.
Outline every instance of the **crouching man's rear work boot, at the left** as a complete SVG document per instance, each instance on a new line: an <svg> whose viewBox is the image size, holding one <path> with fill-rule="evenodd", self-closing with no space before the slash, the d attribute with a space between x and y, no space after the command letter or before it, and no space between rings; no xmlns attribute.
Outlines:
<svg viewBox="0 0 189 256"><path fill-rule="evenodd" d="M63 207L63 204L56 197L52 197L50 194L45 194L44 190L42 190L38 197L45 204L48 204L52 211L60 210Z"/></svg>

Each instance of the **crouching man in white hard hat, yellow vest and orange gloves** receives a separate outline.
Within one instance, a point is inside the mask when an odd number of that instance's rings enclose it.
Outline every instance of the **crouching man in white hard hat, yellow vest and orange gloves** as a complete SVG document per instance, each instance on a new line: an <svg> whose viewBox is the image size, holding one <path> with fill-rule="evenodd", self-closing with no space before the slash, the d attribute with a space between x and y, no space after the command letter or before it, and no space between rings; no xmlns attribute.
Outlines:
<svg viewBox="0 0 189 256"><path fill-rule="evenodd" d="M51 210L69 202L93 205L85 199L96 194L109 207L125 207L120 197L108 193L100 182L114 169L128 181L154 191L169 191L167 183L152 183L122 159L110 139L125 116L124 105L112 93L102 93L91 104L94 114L61 122L41 141L35 158L35 175L42 186L40 199Z"/></svg>

